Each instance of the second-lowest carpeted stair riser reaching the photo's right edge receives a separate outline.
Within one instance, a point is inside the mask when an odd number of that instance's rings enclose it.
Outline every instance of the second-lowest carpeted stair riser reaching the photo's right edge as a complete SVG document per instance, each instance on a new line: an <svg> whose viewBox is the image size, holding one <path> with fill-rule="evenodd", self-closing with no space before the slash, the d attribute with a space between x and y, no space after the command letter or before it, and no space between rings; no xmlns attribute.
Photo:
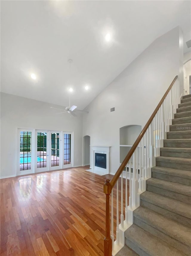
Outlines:
<svg viewBox="0 0 191 256"><path fill-rule="evenodd" d="M171 220L175 220L178 223L181 223L181 224L191 228L191 220L189 218L187 218L187 217L184 217L184 216L182 216L180 214L177 214L175 212L169 211L169 210L167 210L165 208L159 207L157 205L154 205L154 204L152 204L150 202L147 202L147 201L144 201L142 199L141 199L141 206L144 206L144 207L146 207L146 208L148 208L148 209L150 209L152 211L155 211L155 212L157 212L157 213L159 213L159 214L161 214L161 215L163 215L163 216L165 216L167 218L170 218Z"/></svg>

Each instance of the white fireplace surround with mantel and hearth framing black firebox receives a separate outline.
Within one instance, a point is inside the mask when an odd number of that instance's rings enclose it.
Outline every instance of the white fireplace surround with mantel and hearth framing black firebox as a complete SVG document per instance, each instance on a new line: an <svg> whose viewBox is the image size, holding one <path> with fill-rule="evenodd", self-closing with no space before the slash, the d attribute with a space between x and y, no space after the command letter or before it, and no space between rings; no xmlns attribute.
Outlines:
<svg viewBox="0 0 191 256"><path fill-rule="evenodd" d="M95 166L95 153L106 154L106 169ZM90 146L90 168L91 172L105 175L110 172L110 147Z"/></svg>

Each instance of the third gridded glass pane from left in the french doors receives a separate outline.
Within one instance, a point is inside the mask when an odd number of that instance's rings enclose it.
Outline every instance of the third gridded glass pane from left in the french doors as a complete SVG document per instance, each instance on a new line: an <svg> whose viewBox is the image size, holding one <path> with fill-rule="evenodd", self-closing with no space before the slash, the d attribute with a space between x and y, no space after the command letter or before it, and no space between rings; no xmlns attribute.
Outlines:
<svg viewBox="0 0 191 256"><path fill-rule="evenodd" d="M51 166L59 165L59 133L51 133Z"/></svg>

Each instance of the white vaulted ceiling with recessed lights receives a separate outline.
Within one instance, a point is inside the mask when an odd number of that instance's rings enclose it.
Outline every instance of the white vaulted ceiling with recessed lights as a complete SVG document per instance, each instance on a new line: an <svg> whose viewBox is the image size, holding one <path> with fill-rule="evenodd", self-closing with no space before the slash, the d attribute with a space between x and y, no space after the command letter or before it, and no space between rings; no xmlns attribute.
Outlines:
<svg viewBox="0 0 191 256"><path fill-rule="evenodd" d="M178 25L187 52L190 1L1 1L1 91L67 106L71 86L71 104L84 109Z"/></svg>

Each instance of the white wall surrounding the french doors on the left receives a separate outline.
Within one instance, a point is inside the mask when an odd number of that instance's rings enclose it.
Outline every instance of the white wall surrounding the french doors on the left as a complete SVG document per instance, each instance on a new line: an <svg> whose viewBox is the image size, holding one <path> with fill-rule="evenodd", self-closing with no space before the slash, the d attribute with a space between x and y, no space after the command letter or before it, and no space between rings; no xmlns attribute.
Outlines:
<svg viewBox="0 0 191 256"><path fill-rule="evenodd" d="M37 100L1 93L1 173L16 173L16 130L18 127L74 132L74 166L82 165L82 116L56 115L53 106ZM63 108L61 106L55 106ZM58 110L59 112L59 110Z"/></svg>

